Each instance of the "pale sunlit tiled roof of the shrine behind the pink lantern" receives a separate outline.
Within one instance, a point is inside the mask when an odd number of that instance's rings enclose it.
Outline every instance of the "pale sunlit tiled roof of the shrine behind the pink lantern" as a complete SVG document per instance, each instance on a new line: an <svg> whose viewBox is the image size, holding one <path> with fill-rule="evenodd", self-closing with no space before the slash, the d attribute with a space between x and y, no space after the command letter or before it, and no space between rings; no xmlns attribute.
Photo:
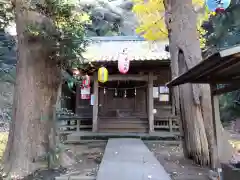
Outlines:
<svg viewBox="0 0 240 180"><path fill-rule="evenodd" d="M137 37L91 38L83 57L92 62L117 61L124 50L129 60L168 60L168 42L148 42Z"/></svg>

